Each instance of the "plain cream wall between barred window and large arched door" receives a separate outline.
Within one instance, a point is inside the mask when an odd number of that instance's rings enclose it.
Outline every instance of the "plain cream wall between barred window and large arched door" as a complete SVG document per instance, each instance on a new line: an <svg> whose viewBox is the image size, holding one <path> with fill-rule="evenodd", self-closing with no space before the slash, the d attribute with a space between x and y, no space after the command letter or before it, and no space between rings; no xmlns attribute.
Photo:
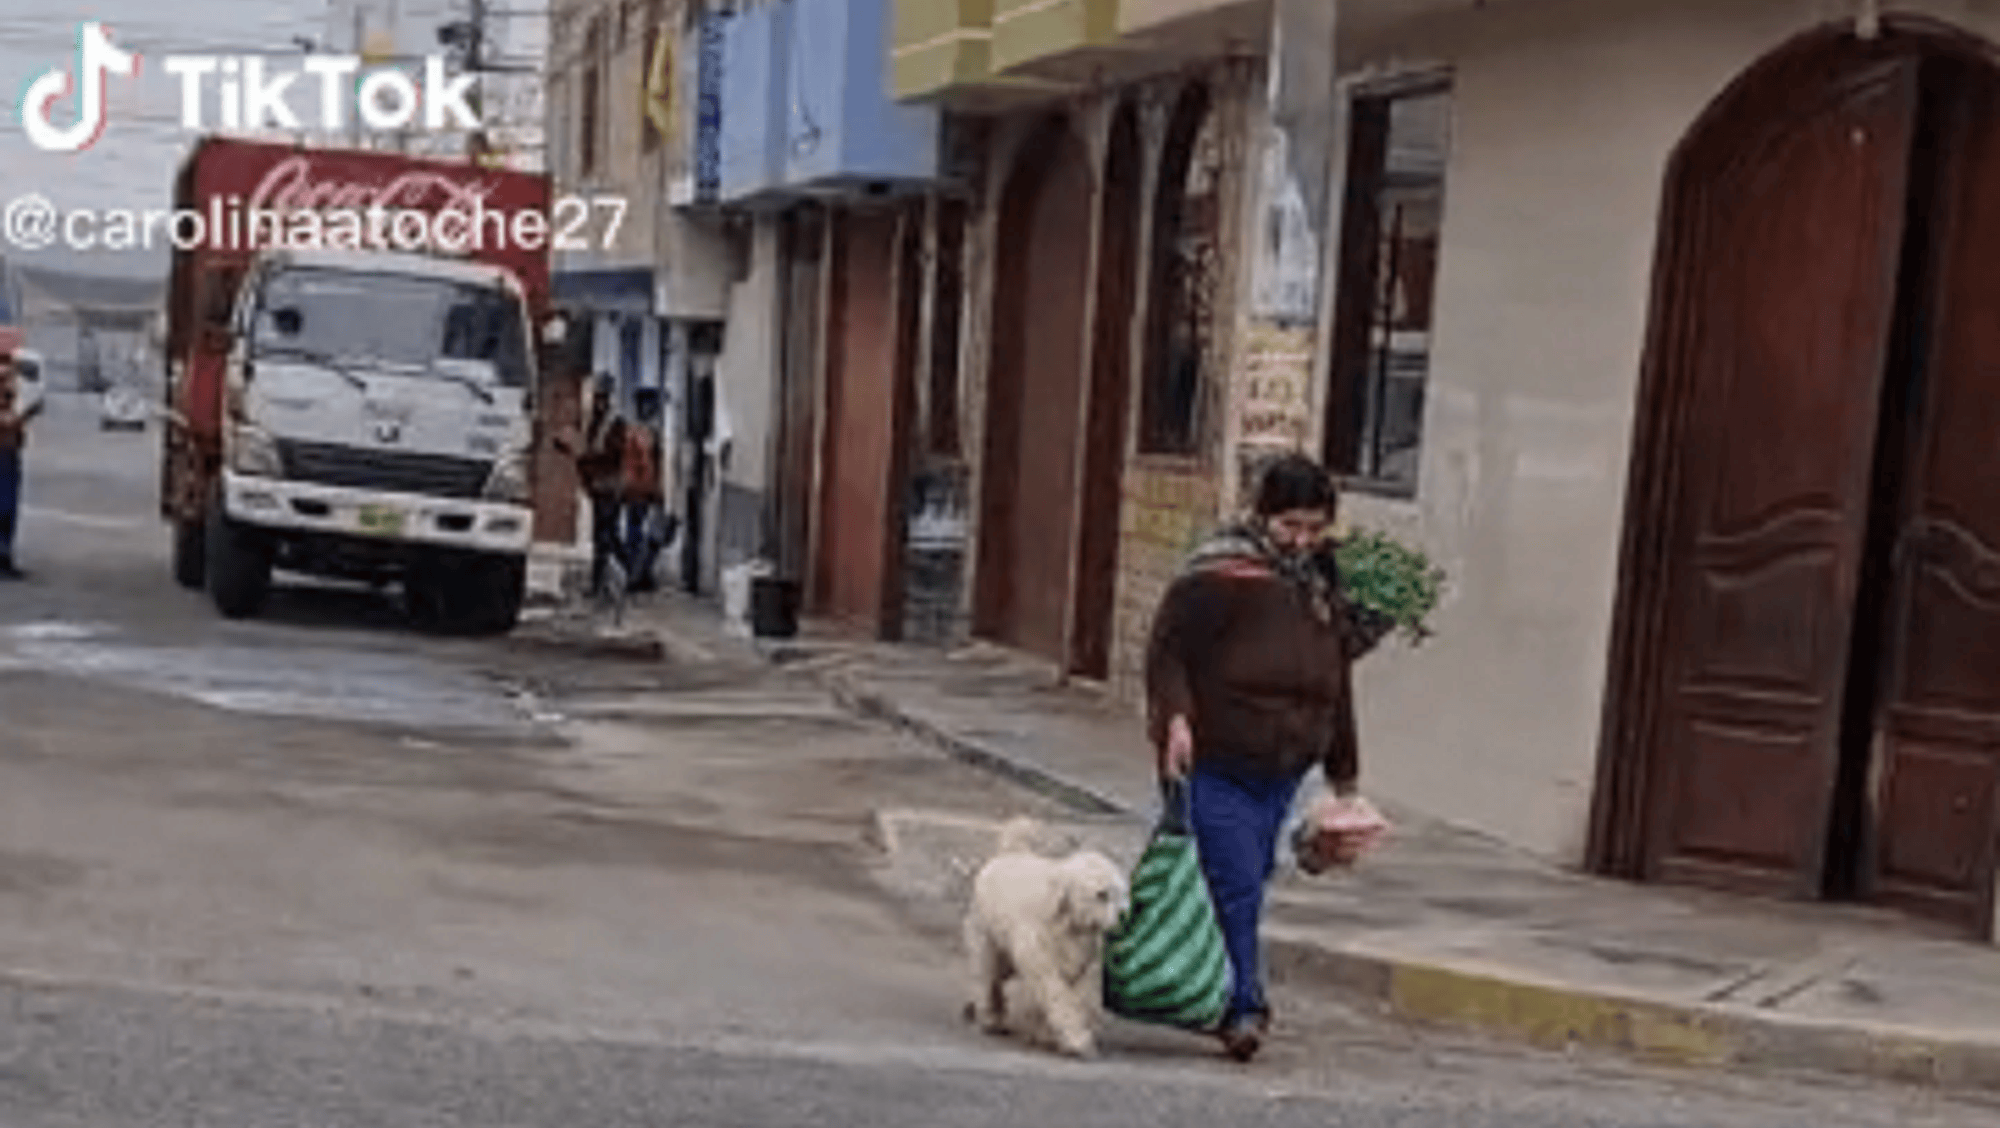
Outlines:
<svg viewBox="0 0 2000 1128"><path fill-rule="evenodd" d="M1884 8L2000 38L2000 8ZM1438 638L1358 672L1382 794L1580 860L1666 162L1736 74L1854 10L1550 0L1346 40L1342 70L1456 70L1418 500L1346 506L1454 578Z"/></svg>

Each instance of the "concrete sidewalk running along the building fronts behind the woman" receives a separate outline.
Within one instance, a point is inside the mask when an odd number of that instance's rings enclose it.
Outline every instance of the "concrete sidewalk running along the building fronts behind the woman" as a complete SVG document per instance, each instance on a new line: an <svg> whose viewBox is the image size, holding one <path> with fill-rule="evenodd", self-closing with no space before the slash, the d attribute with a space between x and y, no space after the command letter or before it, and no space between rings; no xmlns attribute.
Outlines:
<svg viewBox="0 0 2000 1128"><path fill-rule="evenodd" d="M632 626L670 656L762 652L812 672L848 708L1066 800L1072 838L1114 856L1136 856L1158 810L1136 710L1012 654L752 642L674 596L638 606ZM1360 868L1280 878L1274 980L1546 1048L2000 1090L2000 950L1862 908L1586 878L1382 806L1396 834ZM942 896L992 834L926 812L882 812L878 830Z"/></svg>

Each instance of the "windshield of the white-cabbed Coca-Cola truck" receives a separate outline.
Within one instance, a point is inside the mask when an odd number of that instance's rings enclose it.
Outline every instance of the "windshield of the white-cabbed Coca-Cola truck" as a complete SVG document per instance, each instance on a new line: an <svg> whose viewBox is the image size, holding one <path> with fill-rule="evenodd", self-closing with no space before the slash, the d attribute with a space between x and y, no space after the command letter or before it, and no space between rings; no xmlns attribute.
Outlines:
<svg viewBox="0 0 2000 1128"><path fill-rule="evenodd" d="M490 364L498 384L528 384L520 300L496 286L302 266L266 278L258 304L258 352L424 370L470 360Z"/></svg>

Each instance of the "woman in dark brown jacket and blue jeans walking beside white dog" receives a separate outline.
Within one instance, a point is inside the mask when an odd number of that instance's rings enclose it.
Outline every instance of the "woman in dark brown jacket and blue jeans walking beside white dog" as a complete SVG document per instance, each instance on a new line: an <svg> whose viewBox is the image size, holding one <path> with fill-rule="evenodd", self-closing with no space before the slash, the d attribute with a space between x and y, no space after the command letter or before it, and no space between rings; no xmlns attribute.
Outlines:
<svg viewBox="0 0 2000 1128"><path fill-rule="evenodd" d="M1192 830L1234 970L1224 1048L1250 1060L1270 1028L1258 956L1278 832L1314 764L1350 796L1360 774L1350 686L1358 648L1314 564L1340 504L1332 476L1288 454L1252 514L1202 544L1166 590L1146 662L1162 778L1188 780Z"/></svg>

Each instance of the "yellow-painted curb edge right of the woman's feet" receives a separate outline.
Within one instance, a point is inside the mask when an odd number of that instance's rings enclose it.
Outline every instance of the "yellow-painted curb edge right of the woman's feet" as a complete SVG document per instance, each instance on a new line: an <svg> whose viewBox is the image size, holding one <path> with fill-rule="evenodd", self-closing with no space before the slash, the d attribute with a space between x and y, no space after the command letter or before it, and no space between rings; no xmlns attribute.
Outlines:
<svg viewBox="0 0 2000 1128"><path fill-rule="evenodd" d="M1608 1050L1648 1064L1832 1072L1880 1082L2000 1090L2000 1042L1740 1006L1620 996L1506 968L1338 950L1268 934L1272 970L1332 988L1414 1026L1538 1050Z"/></svg>

